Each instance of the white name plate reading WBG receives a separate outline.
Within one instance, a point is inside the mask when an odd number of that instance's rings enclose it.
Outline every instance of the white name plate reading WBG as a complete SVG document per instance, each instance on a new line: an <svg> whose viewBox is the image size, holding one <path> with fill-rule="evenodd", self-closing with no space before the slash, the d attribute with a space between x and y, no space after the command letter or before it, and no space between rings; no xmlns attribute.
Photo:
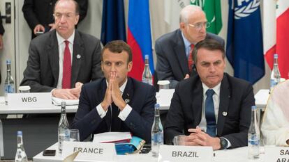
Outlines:
<svg viewBox="0 0 289 162"><path fill-rule="evenodd" d="M47 108L52 106L50 92L8 93L9 108Z"/></svg>

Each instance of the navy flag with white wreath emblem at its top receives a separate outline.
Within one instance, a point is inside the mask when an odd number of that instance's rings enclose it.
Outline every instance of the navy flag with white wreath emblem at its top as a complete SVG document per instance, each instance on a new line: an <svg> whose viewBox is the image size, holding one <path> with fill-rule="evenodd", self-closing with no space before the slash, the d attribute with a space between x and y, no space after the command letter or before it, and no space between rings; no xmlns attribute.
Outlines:
<svg viewBox="0 0 289 162"><path fill-rule="evenodd" d="M229 0L226 53L234 76L252 84L264 76L260 0Z"/></svg>

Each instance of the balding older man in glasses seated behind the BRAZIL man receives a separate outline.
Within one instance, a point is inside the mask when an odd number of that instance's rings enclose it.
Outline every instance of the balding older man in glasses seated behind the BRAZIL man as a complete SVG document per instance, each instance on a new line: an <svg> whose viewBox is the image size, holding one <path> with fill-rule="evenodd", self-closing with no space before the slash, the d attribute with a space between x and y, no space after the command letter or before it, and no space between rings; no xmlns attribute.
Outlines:
<svg viewBox="0 0 289 162"><path fill-rule="evenodd" d="M213 38L224 45L218 35L206 33L209 27L206 15L199 6L189 5L181 10L179 29L167 33L156 40L156 74L158 80L169 80L170 88L179 81L193 76L193 63L188 65L191 44L205 38Z"/></svg>

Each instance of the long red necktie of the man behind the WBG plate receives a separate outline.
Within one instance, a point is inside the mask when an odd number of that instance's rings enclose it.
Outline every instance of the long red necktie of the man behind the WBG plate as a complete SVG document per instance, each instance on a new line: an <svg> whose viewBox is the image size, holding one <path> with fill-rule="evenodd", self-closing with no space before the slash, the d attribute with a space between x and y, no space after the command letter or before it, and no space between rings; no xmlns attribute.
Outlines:
<svg viewBox="0 0 289 162"><path fill-rule="evenodd" d="M71 88L71 51L69 51L69 42L65 40L64 49L64 70L62 74L62 88Z"/></svg>

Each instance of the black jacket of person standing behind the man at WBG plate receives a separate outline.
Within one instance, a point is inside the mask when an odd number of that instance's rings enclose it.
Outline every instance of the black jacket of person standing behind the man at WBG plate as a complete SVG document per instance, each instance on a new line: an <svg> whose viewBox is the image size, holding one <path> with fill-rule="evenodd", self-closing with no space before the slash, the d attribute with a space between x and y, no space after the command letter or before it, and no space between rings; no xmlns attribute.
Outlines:
<svg viewBox="0 0 289 162"><path fill-rule="evenodd" d="M80 6L80 20L87 15L88 0L76 0ZM32 38L35 38L34 28L37 24L42 24L45 31L50 30L48 24L54 23L53 10L57 0L24 0L22 12L30 29L32 30Z"/></svg>

